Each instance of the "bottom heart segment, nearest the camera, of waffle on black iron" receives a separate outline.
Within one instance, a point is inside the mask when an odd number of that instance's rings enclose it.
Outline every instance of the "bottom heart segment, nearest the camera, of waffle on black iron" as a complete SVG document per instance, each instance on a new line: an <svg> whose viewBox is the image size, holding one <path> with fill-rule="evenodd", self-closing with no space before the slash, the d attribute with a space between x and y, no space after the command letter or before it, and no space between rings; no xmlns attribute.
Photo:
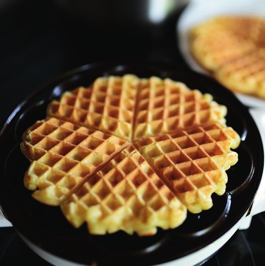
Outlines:
<svg viewBox="0 0 265 266"><path fill-rule="evenodd" d="M61 206L69 222L87 222L90 233L124 230L153 235L157 226L175 228L187 209L159 179L140 153L125 148Z"/></svg>

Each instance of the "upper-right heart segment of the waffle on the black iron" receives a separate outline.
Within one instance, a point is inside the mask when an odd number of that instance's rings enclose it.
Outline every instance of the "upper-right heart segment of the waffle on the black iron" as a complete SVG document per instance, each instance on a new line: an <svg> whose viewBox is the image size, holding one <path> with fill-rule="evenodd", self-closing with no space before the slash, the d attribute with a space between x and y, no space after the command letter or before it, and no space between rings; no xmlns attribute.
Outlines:
<svg viewBox="0 0 265 266"><path fill-rule="evenodd" d="M134 141L205 123L225 124L227 109L212 95L169 78L142 79L137 100Z"/></svg>

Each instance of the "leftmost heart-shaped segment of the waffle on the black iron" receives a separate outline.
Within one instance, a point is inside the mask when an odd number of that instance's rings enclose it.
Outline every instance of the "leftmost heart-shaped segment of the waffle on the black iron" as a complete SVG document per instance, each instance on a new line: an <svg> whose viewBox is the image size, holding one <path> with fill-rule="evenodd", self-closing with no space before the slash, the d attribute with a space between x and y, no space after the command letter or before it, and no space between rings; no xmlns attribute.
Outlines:
<svg viewBox="0 0 265 266"><path fill-rule="evenodd" d="M50 118L37 121L20 147L32 163L24 176L33 198L60 205L129 143L116 136Z"/></svg>

